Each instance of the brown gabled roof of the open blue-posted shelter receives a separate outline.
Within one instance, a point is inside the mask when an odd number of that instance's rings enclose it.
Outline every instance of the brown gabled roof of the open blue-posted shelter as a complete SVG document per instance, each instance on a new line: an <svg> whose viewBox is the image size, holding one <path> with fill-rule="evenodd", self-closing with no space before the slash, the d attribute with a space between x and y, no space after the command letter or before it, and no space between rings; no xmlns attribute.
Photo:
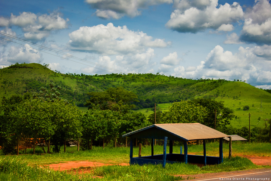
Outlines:
<svg viewBox="0 0 271 181"><path fill-rule="evenodd" d="M153 139L164 139L167 136L168 140L175 141L228 137L228 135L200 123L154 124L122 135L122 137L126 136Z"/></svg>

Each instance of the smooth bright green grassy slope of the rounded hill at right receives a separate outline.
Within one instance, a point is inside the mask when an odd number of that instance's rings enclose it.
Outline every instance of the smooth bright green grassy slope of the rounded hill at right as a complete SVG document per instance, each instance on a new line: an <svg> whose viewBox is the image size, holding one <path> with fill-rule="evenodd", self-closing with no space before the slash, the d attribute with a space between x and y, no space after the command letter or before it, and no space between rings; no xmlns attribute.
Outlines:
<svg viewBox="0 0 271 181"><path fill-rule="evenodd" d="M271 118L271 94L255 88L244 82L227 82L200 96L218 95L216 101L224 101L224 105L234 110L238 119L233 119L231 125L239 128L249 125L249 113L251 113L251 126L265 126L265 119ZM237 97L237 98L236 98ZM262 103L261 103L262 102ZM254 106L252 106L254 105ZM262 105L262 109L260 106ZM243 111L244 106L249 110ZM237 110L241 108L241 110ZM261 118L260 121L258 118Z"/></svg>

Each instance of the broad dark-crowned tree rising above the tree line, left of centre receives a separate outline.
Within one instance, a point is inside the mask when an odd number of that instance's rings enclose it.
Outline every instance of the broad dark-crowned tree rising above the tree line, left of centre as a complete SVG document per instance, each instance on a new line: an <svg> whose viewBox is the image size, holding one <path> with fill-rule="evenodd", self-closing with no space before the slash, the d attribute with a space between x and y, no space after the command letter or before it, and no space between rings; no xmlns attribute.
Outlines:
<svg viewBox="0 0 271 181"><path fill-rule="evenodd" d="M89 109L114 110L127 113L135 105L132 102L137 101L137 95L132 91L124 90L123 87L109 88L104 92L89 92L89 100L85 106Z"/></svg>

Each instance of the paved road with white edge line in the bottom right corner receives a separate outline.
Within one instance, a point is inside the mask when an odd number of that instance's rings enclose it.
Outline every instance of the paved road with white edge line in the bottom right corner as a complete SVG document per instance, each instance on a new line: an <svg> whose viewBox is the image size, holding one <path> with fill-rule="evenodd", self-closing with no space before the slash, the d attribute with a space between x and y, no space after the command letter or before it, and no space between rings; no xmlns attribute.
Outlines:
<svg viewBox="0 0 271 181"><path fill-rule="evenodd" d="M191 176L193 178L193 176ZM190 177L190 178L191 178ZM252 169L252 170L243 170L238 172L223 172L216 173L213 175L204 175L198 174L195 175L196 179L189 179L190 181L218 181L218 180L245 180L245 181L271 181L271 168L265 169Z"/></svg>

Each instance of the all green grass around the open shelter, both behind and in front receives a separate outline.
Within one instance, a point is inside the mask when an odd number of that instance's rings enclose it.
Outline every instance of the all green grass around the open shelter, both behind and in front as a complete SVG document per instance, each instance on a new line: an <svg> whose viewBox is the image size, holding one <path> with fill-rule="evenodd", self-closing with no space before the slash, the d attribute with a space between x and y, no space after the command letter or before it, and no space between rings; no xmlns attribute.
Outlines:
<svg viewBox="0 0 271 181"><path fill-rule="evenodd" d="M206 144L208 156L218 156L218 142ZM271 144L243 144L233 143L233 157L228 160L228 144L223 144L224 162L219 165L198 167L191 164L161 165L108 165L102 167L78 167L67 171L54 171L48 167L40 167L59 163L83 163L80 161L120 164L129 163L129 148L94 147L92 151L76 151L76 148L67 148L66 153L44 155L0 156L0 180L182 180L181 176L198 173L216 173L223 171L246 170L262 168L240 155L258 155L270 157ZM63 149L62 149L63 150ZM133 157L137 156L138 148L134 148ZM169 149L167 149L169 150ZM161 154L162 146L154 146L154 154ZM149 155L151 147L142 148L142 156ZM179 146L173 147L173 153L179 153ZM202 145L188 145L188 154L203 154ZM28 166L30 165L30 166ZM270 166L264 166L270 167ZM58 170L58 169L57 169ZM82 174L84 173L84 174Z"/></svg>

